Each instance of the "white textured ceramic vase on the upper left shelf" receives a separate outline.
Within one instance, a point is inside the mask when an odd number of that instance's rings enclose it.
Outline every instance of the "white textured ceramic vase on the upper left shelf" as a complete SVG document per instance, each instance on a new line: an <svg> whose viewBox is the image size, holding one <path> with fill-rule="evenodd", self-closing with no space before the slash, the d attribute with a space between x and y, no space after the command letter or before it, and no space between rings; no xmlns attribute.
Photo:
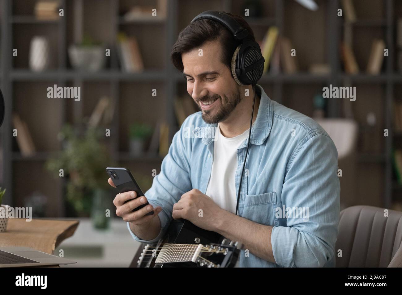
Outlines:
<svg viewBox="0 0 402 295"><path fill-rule="evenodd" d="M29 47L29 68L32 71L43 71L49 67L49 40L44 36L34 36Z"/></svg>

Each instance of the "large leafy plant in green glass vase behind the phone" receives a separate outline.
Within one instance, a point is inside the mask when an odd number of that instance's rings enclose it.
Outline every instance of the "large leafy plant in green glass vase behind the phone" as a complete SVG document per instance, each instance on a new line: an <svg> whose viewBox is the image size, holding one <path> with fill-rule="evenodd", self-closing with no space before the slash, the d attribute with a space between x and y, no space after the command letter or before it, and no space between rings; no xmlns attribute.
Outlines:
<svg viewBox="0 0 402 295"><path fill-rule="evenodd" d="M105 210L112 209L113 206L113 199L107 193L109 185L105 169L110 161L107 148L101 142L103 134L99 129L88 128L80 135L70 125L64 126L59 134L59 139L64 141L63 151L45 164L56 177L59 177L60 169L64 170L65 176L68 175L68 203L72 205L76 215L91 216L96 228L107 227L109 218L106 217ZM98 200L99 198L103 199ZM94 206L99 205L103 208L94 210Z"/></svg>

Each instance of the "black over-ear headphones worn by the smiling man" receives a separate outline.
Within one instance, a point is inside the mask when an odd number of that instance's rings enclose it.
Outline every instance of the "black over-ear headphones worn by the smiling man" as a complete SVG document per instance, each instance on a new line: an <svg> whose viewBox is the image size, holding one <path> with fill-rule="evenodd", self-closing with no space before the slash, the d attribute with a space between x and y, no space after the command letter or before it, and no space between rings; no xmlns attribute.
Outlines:
<svg viewBox="0 0 402 295"><path fill-rule="evenodd" d="M207 10L197 15L191 22L199 19L215 20L224 25L232 33L234 39L241 41L232 57L232 75L241 86L256 84L263 75L265 59L261 54L260 45L250 39L246 28L226 14L224 11Z"/></svg>

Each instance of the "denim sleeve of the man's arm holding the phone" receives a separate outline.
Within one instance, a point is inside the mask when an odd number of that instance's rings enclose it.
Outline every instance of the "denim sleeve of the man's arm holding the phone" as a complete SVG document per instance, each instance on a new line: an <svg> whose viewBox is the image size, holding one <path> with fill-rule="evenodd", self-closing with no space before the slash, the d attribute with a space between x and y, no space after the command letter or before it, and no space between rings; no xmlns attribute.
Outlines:
<svg viewBox="0 0 402 295"><path fill-rule="evenodd" d="M189 161L185 157L185 145L183 144L183 140L191 140L191 138L183 136L183 126L185 126L190 117L187 117L180 130L174 134L168 155L162 161L161 171L154 177L151 188L145 193L151 205L162 207L162 211L158 214L161 224L158 236L153 240L142 240L131 231L129 222L127 222L127 228L131 236L138 242L152 244L162 238L172 220L174 203L185 192L192 189L189 175Z"/></svg>

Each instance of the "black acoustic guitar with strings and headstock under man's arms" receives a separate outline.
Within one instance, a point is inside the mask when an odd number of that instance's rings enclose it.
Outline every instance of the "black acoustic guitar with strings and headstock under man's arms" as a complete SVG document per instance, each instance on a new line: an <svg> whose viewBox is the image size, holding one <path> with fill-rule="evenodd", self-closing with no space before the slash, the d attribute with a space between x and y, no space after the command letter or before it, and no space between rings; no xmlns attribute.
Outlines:
<svg viewBox="0 0 402 295"><path fill-rule="evenodd" d="M241 244L188 220L172 220L156 244L146 244L137 267L234 267Z"/></svg>

